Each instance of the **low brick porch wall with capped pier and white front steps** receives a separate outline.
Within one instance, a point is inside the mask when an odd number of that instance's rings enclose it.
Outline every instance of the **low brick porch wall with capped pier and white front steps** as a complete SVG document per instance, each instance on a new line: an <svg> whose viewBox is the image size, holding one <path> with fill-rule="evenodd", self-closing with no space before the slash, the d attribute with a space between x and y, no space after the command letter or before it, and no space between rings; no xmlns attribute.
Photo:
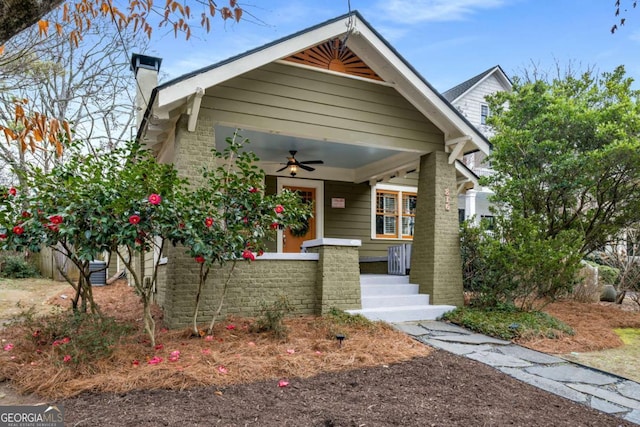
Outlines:
<svg viewBox="0 0 640 427"><path fill-rule="evenodd" d="M222 316L255 316L263 303L286 296L297 314L326 313L332 308L360 313L370 320L406 322L436 319L453 305L430 305L431 296L409 283L409 276L361 274L359 240L306 241L303 253L265 253L234 269ZM188 268L180 248L170 248L173 268L162 265L156 302L170 327L188 325L193 316L197 271ZM183 268L177 266L184 266ZM210 273L199 317L208 321L220 301L220 284L230 267Z"/></svg>

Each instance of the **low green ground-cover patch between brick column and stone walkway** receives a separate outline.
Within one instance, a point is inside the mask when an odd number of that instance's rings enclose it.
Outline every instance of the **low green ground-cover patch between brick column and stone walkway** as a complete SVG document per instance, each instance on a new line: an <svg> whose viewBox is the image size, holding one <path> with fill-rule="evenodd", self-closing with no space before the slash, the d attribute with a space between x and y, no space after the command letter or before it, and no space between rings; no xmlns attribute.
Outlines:
<svg viewBox="0 0 640 427"><path fill-rule="evenodd" d="M514 338L560 338L573 330L541 311L522 311L514 306L498 308L459 307L443 318L481 334L511 340Z"/></svg>

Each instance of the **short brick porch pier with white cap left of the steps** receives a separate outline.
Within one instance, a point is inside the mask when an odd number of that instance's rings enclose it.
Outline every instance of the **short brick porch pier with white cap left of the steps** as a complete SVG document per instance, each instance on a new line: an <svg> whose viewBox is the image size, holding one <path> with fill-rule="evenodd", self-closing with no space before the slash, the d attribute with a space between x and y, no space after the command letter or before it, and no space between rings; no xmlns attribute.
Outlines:
<svg viewBox="0 0 640 427"><path fill-rule="evenodd" d="M330 308L362 308L360 300L360 240L315 239L302 243L308 252L319 254L316 279L316 312Z"/></svg>

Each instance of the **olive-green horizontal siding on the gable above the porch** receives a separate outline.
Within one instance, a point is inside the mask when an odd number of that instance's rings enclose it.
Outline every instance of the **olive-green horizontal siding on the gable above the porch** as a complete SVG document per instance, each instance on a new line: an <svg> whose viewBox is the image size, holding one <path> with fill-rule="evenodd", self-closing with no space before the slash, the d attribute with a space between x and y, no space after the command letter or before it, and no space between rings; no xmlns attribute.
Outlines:
<svg viewBox="0 0 640 427"><path fill-rule="evenodd" d="M207 90L200 117L327 140L442 150L443 135L394 88L283 64Z"/></svg>

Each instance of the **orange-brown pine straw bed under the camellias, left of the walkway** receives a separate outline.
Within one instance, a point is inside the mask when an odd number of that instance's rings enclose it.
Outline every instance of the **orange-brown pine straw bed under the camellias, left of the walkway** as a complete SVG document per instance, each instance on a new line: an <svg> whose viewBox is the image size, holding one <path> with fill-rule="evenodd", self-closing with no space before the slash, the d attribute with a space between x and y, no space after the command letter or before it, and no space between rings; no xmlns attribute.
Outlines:
<svg viewBox="0 0 640 427"><path fill-rule="evenodd" d="M142 307L132 288L119 282L94 287L94 298L102 309L121 322L141 324ZM67 293L71 295L71 293ZM68 306L60 296L53 303ZM46 399L75 396L83 391L127 392L131 390L186 389L197 386L225 387L260 380L308 378L321 372L387 365L426 356L431 349L391 327L376 323L350 326L326 318L296 317L286 320L286 341L250 331L252 319L227 318L216 325L212 338L191 338L190 331L166 330L160 325L157 349L142 332L114 346L106 360L75 366L62 362L60 352L49 344L37 347L29 339L32 331L20 327L0 331L0 382L10 380L24 394ZM342 345L335 334L344 334ZM73 337L69 337L73 340ZM179 359L170 361L172 352ZM154 357L158 364L149 364Z"/></svg>

